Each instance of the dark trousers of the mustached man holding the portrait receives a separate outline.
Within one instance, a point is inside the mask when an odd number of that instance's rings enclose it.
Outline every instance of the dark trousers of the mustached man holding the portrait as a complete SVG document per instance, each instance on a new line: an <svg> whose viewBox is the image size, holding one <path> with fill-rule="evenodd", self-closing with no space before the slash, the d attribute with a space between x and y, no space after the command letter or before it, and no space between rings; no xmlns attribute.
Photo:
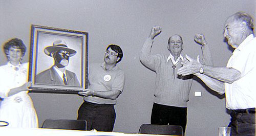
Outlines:
<svg viewBox="0 0 256 136"><path fill-rule="evenodd" d="M94 104L84 101L78 109L78 120L87 121L87 129L113 131L116 112L112 104Z"/></svg>

